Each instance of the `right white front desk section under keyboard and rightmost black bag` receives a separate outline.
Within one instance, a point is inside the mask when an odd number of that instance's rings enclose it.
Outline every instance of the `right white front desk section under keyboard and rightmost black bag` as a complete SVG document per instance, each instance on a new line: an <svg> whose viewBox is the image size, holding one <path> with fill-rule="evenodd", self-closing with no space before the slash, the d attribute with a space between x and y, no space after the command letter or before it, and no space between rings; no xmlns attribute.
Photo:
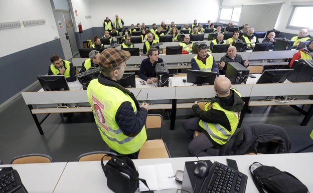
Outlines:
<svg viewBox="0 0 313 193"><path fill-rule="evenodd" d="M237 161L240 172L248 176L246 192L258 193L249 171L249 166L257 161L263 165L275 166L281 171L287 171L305 184L309 191L313 190L313 153L282 153L282 154L259 154L259 155L234 155L234 156L214 156L199 157L199 160L210 159L212 162L218 161L226 164L226 158Z"/></svg>

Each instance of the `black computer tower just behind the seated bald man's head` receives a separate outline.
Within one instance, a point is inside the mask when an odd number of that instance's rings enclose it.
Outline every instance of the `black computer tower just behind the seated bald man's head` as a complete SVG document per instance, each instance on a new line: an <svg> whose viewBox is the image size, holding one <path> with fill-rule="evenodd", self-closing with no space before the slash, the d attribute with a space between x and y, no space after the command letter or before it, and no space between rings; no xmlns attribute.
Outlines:
<svg viewBox="0 0 313 193"><path fill-rule="evenodd" d="M232 84L246 84L249 77L249 70L238 62L227 64L226 74Z"/></svg>

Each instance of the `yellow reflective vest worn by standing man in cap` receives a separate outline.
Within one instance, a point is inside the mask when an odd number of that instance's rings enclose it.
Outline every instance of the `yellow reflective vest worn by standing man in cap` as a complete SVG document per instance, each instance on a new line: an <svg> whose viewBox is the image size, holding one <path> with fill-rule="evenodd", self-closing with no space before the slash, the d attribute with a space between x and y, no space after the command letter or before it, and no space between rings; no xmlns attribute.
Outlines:
<svg viewBox="0 0 313 193"><path fill-rule="evenodd" d="M105 92L103 92L104 90ZM121 154L138 151L146 140L145 126L136 136L129 137L124 135L115 121L116 112L125 101L130 102L134 113L137 113L131 97L115 87L100 84L98 79L90 81L87 96L95 122L105 143Z"/></svg>

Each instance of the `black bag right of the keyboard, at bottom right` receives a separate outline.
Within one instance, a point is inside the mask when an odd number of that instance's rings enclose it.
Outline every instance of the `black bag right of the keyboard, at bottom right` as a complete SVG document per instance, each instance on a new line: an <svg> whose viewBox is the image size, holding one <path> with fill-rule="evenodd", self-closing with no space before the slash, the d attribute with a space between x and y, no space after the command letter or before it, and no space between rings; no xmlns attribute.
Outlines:
<svg viewBox="0 0 313 193"><path fill-rule="evenodd" d="M254 162L249 170L260 193L307 193L307 187L292 174ZM265 191L264 191L265 190Z"/></svg>

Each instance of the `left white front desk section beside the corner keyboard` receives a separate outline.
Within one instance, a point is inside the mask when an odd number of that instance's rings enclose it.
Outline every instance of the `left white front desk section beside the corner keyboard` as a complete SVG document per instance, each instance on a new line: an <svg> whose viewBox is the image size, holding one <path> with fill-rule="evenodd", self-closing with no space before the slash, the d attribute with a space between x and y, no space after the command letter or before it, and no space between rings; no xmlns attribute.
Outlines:
<svg viewBox="0 0 313 193"><path fill-rule="evenodd" d="M13 167L30 193L53 192L67 162L0 165Z"/></svg>

